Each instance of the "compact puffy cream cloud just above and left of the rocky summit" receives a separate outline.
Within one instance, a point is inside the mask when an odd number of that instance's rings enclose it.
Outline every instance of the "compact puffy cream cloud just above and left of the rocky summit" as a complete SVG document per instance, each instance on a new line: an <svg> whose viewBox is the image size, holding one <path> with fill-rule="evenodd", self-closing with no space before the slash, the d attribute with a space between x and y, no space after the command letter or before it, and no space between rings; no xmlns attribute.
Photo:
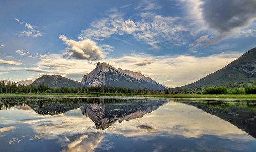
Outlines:
<svg viewBox="0 0 256 152"><path fill-rule="evenodd" d="M75 57L77 59L95 60L103 59L104 55L91 39L85 39L82 41L74 41L67 39L66 36L60 35L59 37L65 44L70 47L69 57Z"/></svg>

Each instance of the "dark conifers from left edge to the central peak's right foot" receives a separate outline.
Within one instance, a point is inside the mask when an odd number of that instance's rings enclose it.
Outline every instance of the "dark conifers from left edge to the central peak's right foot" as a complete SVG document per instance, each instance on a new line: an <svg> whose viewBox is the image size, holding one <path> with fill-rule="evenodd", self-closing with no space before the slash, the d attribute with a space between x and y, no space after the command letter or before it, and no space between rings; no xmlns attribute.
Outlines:
<svg viewBox="0 0 256 152"><path fill-rule="evenodd" d="M97 86L83 88L68 88L68 87L49 87L42 82L38 86L24 86L15 84L14 82L0 82L0 93L57 93L57 94L169 94L166 90L149 90L149 89L133 89L133 88L121 88L113 86Z"/></svg>

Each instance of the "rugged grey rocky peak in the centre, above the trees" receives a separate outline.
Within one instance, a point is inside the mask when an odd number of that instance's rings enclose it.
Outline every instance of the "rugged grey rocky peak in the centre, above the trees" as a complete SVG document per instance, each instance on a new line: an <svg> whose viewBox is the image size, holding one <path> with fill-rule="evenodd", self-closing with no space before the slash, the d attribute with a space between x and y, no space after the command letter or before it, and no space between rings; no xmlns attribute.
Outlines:
<svg viewBox="0 0 256 152"><path fill-rule="evenodd" d="M120 68L117 70L105 62L98 63L94 70L84 75L81 83L89 87L104 85L135 89L168 89L168 87L157 83L149 77L145 77L141 73L122 70Z"/></svg>

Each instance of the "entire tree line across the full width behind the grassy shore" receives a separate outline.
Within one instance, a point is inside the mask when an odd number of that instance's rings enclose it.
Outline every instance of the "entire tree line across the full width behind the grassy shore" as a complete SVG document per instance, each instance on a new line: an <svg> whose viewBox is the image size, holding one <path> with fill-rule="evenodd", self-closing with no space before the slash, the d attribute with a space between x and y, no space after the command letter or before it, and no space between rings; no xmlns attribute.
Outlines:
<svg viewBox="0 0 256 152"><path fill-rule="evenodd" d="M24 86L14 82L7 84L0 82L0 93L42 93L42 94L256 94L256 86L235 87L228 89L226 86L198 87L198 88L172 88L167 90L150 90L143 88L121 88L114 86L97 86L83 88L49 87L42 82L38 86Z"/></svg>

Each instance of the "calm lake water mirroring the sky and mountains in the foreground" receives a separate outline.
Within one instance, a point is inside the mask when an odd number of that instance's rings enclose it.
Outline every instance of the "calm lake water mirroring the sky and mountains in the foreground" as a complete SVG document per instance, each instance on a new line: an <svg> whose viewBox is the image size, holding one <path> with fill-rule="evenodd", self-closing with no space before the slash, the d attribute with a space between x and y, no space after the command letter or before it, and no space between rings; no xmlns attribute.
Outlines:
<svg viewBox="0 0 256 152"><path fill-rule="evenodd" d="M256 104L0 98L0 151L256 151Z"/></svg>

